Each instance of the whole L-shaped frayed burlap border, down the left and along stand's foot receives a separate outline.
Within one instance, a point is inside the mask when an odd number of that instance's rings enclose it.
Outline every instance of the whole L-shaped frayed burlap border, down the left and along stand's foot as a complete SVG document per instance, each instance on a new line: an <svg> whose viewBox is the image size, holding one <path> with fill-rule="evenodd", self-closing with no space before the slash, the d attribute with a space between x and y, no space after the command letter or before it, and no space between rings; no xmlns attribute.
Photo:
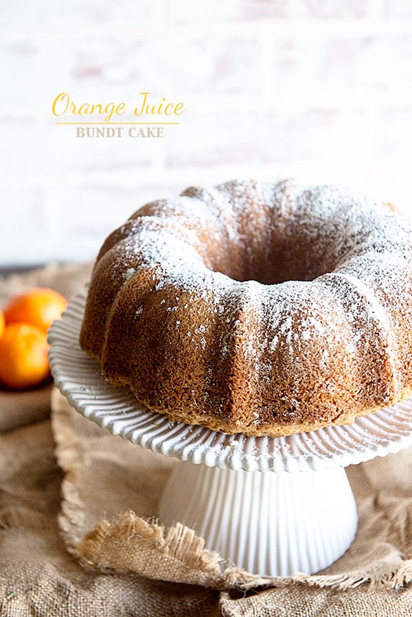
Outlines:
<svg viewBox="0 0 412 617"><path fill-rule="evenodd" d="M52 393L52 410L56 410L57 391ZM58 412L57 412L58 414ZM258 587L308 585L345 590L369 583L387 590L404 587L412 581L412 559L405 559L396 569L388 563L372 563L363 571L341 574L293 574L289 577L261 577L230 565L205 548L205 540L183 524L170 528L144 520L127 511L112 520L101 520L92 531L81 528L84 505L76 489L77 452L70 432L52 415L57 441L56 456L65 471L62 481L62 510L59 524L68 552L93 570L135 572L149 579L202 585L216 590L250 590ZM73 533L76 522L76 533ZM80 540L79 540L80 537ZM385 570L385 571L384 571Z"/></svg>

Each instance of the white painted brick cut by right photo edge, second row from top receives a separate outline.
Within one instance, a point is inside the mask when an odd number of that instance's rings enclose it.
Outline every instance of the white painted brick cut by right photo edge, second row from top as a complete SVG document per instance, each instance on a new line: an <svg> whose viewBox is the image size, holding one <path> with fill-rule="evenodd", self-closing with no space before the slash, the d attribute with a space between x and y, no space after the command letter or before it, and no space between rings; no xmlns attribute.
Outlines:
<svg viewBox="0 0 412 617"><path fill-rule="evenodd" d="M404 89L412 82L412 35L310 36L290 34L275 38L267 49L266 89L273 100L296 93L305 105L305 93L327 95L338 91L341 104L353 104L349 88L361 93ZM336 104L339 105L339 97Z"/></svg>

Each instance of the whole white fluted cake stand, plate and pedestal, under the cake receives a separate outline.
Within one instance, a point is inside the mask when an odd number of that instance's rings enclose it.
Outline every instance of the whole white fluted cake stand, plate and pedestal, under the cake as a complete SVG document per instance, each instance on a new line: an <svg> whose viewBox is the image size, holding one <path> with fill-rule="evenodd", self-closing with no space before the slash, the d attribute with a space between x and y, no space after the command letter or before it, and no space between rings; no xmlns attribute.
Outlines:
<svg viewBox="0 0 412 617"><path fill-rule="evenodd" d="M207 548L254 574L314 573L354 539L356 503L347 465L412 444L412 399L288 437L227 435L170 422L108 384L78 344L86 292L49 331L54 380L84 417L132 443L179 458L163 491L159 520L182 522Z"/></svg>

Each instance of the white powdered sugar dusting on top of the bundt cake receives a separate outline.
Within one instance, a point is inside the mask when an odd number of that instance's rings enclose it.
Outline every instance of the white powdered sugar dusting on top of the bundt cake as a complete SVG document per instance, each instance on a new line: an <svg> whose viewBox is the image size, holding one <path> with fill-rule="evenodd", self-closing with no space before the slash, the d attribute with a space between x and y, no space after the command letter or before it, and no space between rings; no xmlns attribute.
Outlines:
<svg viewBox="0 0 412 617"><path fill-rule="evenodd" d="M244 225L245 217L248 226ZM240 246L241 253L248 254L262 240L260 235L250 235L249 226L253 222L258 229L273 230L278 225L291 242L299 230L304 242L313 246L322 261L333 264L347 280L353 278L351 260L361 261L363 268L368 268L370 261L366 257L371 252L374 257L379 255L381 262L388 258L396 260L399 266L411 264L411 226L407 221L393 216L384 205L371 204L350 191L331 186L302 187L293 181L277 184L233 181L214 189L187 189L181 197L163 201L156 216L139 218L136 213L128 236L119 243L117 262L122 267L119 262L125 256L135 257L134 266L126 269L126 280L141 270L160 266L162 275L157 290L167 286L185 290L192 301L203 298L211 302L217 314L224 318L226 307L242 295L240 288L247 283L211 269L205 263L207 246L201 244L199 237L206 231L222 251L231 251L235 244ZM311 258L307 255L308 260ZM367 283L362 283L362 279L368 278L368 272L371 270L356 277L358 289L362 287L369 312L386 325L385 309L371 297L373 292ZM321 279L328 278L328 272L320 274ZM337 277L333 284L339 286ZM266 295L270 289L270 301L262 304L265 309L262 319L273 335L261 345L275 351L279 342L286 341L292 353L296 336L310 341L323 335L325 325L319 320L322 306L314 303L312 297L310 314L305 310L306 316L299 323L293 318L308 301L303 281L279 282L264 288ZM168 307L170 313L176 310L177 303ZM251 337L247 343L249 351L253 345Z"/></svg>

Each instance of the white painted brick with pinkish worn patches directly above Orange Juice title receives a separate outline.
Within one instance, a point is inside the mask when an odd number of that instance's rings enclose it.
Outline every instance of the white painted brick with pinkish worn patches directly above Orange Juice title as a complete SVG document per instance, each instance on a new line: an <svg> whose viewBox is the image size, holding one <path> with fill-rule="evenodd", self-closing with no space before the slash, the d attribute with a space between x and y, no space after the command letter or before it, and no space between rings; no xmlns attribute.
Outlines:
<svg viewBox="0 0 412 617"><path fill-rule="evenodd" d="M90 40L49 52L48 96L59 91L76 102L125 101L139 93L179 102L191 94L247 92L262 85L260 47L255 40Z"/></svg>

